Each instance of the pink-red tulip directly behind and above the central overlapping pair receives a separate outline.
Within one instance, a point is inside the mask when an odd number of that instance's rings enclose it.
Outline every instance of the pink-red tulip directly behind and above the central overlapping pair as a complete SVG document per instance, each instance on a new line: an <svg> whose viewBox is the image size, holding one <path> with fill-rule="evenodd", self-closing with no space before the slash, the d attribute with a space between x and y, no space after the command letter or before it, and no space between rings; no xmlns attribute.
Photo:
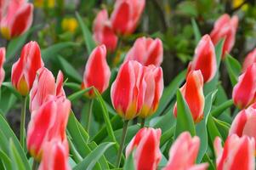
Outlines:
<svg viewBox="0 0 256 170"><path fill-rule="evenodd" d="M128 51L125 60L136 60L141 65L162 64L162 41L151 37L140 37L134 42L134 46Z"/></svg>

